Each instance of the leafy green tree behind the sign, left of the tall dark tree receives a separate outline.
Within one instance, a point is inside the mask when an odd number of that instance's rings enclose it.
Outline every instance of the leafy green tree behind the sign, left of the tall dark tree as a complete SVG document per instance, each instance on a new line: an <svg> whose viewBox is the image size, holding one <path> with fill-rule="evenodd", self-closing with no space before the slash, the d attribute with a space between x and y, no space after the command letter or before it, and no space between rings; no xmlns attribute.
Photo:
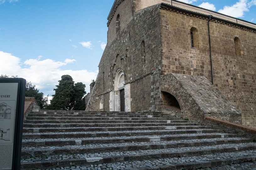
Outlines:
<svg viewBox="0 0 256 170"><path fill-rule="evenodd" d="M8 75L1 75L0 78L18 78L18 76L12 75L11 77L9 77ZM44 96L42 92L39 92L39 90L35 88L35 85L28 81L26 82L25 96L34 97L41 109L45 109L48 105L48 95Z"/></svg>

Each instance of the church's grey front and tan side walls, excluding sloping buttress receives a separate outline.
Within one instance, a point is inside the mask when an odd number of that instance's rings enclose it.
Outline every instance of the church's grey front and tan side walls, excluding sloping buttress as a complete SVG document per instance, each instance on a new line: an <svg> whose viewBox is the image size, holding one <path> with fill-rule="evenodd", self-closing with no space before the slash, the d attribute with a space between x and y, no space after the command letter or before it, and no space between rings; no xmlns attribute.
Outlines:
<svg viewBox="0 0 256 170"><path fill-rule="evenodd" d="M243 125L256 127L255 24L177 1L154 0L150 4L145 0L115 2L118 5L112 9L111 17L108 18L108 42L99 64L99 74L88 110L99 110L101 99L104 100L102 110L110 109L109 98L114 90L117 70L123 70L125 85L130 85L131 111L161 110L160 75L177 73L204 76L209 81L213 79L215 88L242 112ZM158 2L171 2L182 9L166 4L148 7ZM191 12L199 10L206 15ZM118 15L120 29L117 31ZM210 15L213 16L209 21ZM191 32L194 48L191 46ZM184 92L185 95L187 93ZM200 110L196 102L191 104L195 104L195 108L191 108L196 113L194 120L197 117L201 120L202 113L209 112ZM192 111L185 112L192 114ZM238 121L231 112L221 113L225 120L233 117L230 121Z"/></svg>

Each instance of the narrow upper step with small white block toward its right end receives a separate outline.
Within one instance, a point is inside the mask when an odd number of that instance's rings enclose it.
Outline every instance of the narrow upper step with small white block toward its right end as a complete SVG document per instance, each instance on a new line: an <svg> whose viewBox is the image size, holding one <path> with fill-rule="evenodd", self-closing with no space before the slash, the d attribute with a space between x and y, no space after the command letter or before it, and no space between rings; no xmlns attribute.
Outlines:
<svg viewBox="0 0 256 170"><path fill-rule="evenodd" d="M102 123L111 123L111 124L119 124L119 123L187 123L186 120L26 120L25 124L42 124L42 123L56 123L56 124L63 124L63 123L72 123L72 124L78 124L78 123L93 123L93 124L102 124Z"/></svg>

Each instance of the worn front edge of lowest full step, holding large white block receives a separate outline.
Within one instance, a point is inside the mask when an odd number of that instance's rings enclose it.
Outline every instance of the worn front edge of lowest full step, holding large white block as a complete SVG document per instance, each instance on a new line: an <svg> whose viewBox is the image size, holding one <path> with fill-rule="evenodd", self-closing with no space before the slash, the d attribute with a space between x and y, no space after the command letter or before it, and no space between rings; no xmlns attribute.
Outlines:
<svg viewBox="0 0 256 170"><path fill-rule="evenodd" d="M86 157L86 158L73 158L73 159L60 159L60 160L41 160L35 162L23 162L21 161L22 168L33 168L33 167L51 167L51 166L69 166L72 164L102 164L102 163L114 163L114 162L124 162L124 161L137 161L137 160L148 160L148 159L159 159L159 158L171 158L171 157L189 157L194 155L206 155L206 154L215 154L221 152L237 152L237 151L246 151L246 150L255 150L251 147L242 147L242 148L220 148L212 150L197 150L197 151L182 151L182 152L163 152L163 153L154 153L154 154L142 154L142 155L127 155L127 156L113 156L113 157ZM255 156L253 156L255 158ZM247 157L246 157L247 158ZM244 159L246 159L244 158ZM252 160L251 157L248 157L249 160Z"/></svg>

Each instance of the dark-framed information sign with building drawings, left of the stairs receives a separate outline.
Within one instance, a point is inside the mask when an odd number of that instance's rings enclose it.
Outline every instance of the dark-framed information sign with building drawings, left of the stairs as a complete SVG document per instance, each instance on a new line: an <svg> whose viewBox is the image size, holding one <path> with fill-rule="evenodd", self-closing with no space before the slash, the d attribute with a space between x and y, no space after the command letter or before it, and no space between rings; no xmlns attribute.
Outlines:
<svg viewBox="0 0 256 170"><path fill-rule="evenodd" d="M0 170L20 169L26 80L0 79Z"/></svg>

